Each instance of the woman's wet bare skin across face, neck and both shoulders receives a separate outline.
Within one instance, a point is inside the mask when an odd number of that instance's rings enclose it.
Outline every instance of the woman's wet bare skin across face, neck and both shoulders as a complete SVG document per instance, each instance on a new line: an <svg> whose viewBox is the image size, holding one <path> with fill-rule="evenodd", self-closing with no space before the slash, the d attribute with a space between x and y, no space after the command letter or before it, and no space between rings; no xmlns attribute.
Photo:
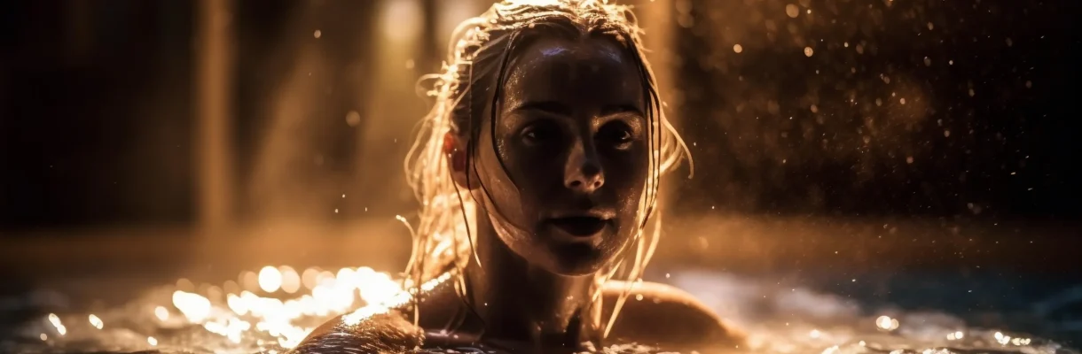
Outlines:
<svg viewBox="0 0 1082 354"><path fill-rule="evenodd" d="M337 318L298 352L405 351L424 337L425 348L560 353L601 339L603 329L585 324L598 312L607 319L626 287L606 284L605 308L594 309L593 274L633 240L650 168L643 82L630 54L602 38L539 38L510 65L497 121L485 112L476 155L452 172L484 213L465 295L453 282L420 295L419 327L405 308ZM462 158L466 139L458 136L450 159ZM734 349L738 337L689 295L644 284L603 344L705 353Z"/></svg>

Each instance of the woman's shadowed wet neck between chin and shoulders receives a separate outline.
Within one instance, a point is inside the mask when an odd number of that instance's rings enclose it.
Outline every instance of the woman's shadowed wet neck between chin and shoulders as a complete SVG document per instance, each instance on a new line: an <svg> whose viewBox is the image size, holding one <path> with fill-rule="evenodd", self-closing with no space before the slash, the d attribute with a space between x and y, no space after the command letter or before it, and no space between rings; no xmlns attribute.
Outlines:
<svg viewBox="0 0 1082 354"><path fill-rule="evenodd" d="M565 348L598 337L590 321L596 310L591 276L565 276L530 264L507 248L486 215L476 220L474 251L480 266L471 260L464 276L485 337Z"/></svg>

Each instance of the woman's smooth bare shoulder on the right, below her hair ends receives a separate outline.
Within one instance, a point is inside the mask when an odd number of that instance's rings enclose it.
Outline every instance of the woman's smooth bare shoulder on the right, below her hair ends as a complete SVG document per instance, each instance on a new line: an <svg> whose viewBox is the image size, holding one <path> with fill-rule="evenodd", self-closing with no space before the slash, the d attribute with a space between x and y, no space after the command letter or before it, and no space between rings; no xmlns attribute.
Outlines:
<svg viewBox="0 0 1082 354"><path fill-rule="evenodd" d="M605 285L605 318L628 286L624 282ZM699 352L738 348L744 338L690 294L658 283L642 283L632 289L610 336L667 350Z"/></svg>

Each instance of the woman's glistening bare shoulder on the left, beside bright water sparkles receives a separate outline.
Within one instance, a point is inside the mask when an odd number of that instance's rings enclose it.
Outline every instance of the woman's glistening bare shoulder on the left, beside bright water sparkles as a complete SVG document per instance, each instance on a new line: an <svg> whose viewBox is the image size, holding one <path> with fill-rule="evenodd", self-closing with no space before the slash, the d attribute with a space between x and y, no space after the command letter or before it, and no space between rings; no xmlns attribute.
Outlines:
<svg viewBox="0 0 1082 354"><path fill-rule="evenodd" d="M423 331L400 311L364 311L322 324L291 353L404 353L421 344Z"/></svg>

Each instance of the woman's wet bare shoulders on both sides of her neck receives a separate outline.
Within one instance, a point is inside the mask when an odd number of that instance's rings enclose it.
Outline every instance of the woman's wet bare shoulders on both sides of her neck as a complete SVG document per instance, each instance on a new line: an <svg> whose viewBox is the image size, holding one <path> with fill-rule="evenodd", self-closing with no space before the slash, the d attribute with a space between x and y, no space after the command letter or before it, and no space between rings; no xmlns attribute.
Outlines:
<svg viewBox="0 0 1082 354"><path fill-rule="evenodd" d="M605 318L611 312L625 284L610 284L604 289ZM638 295L643 295L638 300ZM470 313L447 282L419 297L419 326L413 326L412 310L392 309L348 324L334 318L316 330L295 349L296 353L403 353L418 345L424 353L467 349L485 353L577 353L578 345L533 343L492 338L485 324ZM422 340L423 338L423 340ZM605 345L639 343L657 352L739 353L742 335L724 325L709 309L677 288L645 283L628 298ZM547 344L547 345L546 345ZM411 352L412 353L412 352Z"/></svg>

